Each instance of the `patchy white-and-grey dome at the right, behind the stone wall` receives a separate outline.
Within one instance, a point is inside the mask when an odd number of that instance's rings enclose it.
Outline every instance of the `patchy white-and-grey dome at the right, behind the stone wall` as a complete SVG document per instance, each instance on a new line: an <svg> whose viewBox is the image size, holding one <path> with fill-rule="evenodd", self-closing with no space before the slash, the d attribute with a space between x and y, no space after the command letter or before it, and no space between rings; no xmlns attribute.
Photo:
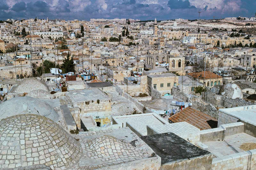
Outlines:
<svg viewBox="0 0 256 170"><path fill-rule="evenodd" d="M220 88L219 95L223 95L232 99L243 98L242 90L235 83L227 83Z"/></svg>

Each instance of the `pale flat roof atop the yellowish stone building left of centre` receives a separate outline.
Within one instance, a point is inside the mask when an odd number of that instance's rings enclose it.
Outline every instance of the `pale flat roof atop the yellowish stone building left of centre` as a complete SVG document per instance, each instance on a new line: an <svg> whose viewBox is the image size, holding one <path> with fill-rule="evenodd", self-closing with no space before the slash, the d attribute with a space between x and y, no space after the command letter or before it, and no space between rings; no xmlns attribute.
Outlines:
<svg viewBox="0 0 256 170"><path fill-rule="evenodd" d="M69 91L66 96L73 102L79 103L84 101L110 100L109 96L98 88L82 89Z"/></svg>

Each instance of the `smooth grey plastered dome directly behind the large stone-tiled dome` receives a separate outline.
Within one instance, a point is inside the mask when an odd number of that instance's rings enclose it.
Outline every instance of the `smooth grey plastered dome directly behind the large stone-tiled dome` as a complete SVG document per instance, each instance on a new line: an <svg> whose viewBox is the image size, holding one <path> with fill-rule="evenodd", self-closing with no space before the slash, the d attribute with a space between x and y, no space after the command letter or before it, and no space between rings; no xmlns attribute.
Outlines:
<svg viewBox="0 0 256 170"><path fill-rule="evenodd" d="M59 119L59 115L53 107L38 98L14 97L0 104L0 120L26 113L42 115L55 122Z"/></svg>

